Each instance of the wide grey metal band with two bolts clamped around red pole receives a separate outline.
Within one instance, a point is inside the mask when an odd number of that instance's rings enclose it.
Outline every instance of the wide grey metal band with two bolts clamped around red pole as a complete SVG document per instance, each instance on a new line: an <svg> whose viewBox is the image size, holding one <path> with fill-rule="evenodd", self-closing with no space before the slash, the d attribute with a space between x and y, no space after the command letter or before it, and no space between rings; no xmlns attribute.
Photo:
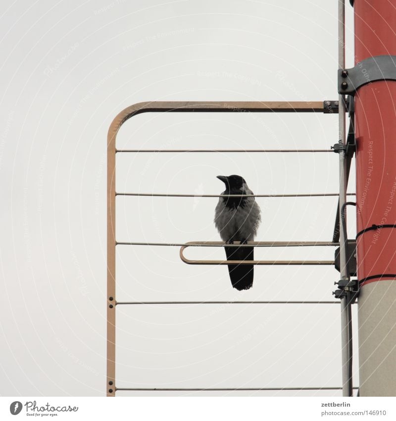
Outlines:
<svg viewBox="0 0 396 421"><path fill-rule="evenodd" d="M338 92L354 95L361 86L378 80L396 80L396 56L375 56L350 69L338 70Z"/></svg>

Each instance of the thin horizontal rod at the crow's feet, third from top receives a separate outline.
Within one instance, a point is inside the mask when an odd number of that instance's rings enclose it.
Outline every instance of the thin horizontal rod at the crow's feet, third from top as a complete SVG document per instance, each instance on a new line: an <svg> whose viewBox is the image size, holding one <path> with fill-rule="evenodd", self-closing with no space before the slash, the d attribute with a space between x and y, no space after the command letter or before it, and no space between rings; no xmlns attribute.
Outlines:
<svg viewBox="0 0 396 421"><path fill-rule="evenodd" d="M121 242L117 241L116 245L154 245L154 246L170 246L170 247L224 247L224 241L191 241L191 242ZM227 244L227 247L314 247L314 246L338 246L339 242L330 241L248 241L247 244Z"/></svg>

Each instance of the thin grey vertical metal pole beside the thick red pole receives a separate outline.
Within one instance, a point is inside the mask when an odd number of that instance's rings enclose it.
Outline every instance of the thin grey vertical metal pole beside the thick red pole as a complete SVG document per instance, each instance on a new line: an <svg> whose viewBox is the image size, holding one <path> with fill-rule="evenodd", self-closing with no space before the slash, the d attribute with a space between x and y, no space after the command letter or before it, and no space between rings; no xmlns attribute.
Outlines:
<svg viewBox="0 0 396 421"><path fill-rule="evenodd" d="M338 65L339 68L345 68L345 0L338 1ZM346 107L344 96L339 95L339 135L340 144L346 144ZM342 221L345 218L345 213L342 213L344 204L347 201L347 159L344 150L340 150L340 272L341 279L349 279L347 271L347 239L346 233L342 229ZM341 354L342 354L342 381L343 381L343 396L352 396L352 378L350 376L349 363L351 360L350 345L351 345L351 309L348 297L341 298Z"/></svg>

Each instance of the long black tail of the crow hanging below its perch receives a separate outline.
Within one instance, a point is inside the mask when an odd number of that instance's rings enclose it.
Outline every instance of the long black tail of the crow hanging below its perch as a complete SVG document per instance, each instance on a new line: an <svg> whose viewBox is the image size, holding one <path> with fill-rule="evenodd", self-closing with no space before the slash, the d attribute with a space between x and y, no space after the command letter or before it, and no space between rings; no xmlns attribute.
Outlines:
<svg viewBox="0 0 396 421"><path fill-rule="evenodd" d="M254 260L253 247L224 247L227 260ZM228 265L231 284L238 291L253 285L253 265Z"/></svg>

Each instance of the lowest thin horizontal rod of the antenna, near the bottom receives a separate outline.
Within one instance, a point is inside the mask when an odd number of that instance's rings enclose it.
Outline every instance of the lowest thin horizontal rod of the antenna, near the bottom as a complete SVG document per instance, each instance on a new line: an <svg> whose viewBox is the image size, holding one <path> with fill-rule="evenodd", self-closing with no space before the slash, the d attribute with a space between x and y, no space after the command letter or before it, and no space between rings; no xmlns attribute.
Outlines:
<svg viewBox="0 0 396 421"><path fill-rule="evenodd" d="M173 391L196 391L196 392L232 392L232 391L260 391L260 390L341 390L342 387L117 387L116 391L157 391L157 392L173 392ZM354 387L353 389L358 389Z"/></svg>

